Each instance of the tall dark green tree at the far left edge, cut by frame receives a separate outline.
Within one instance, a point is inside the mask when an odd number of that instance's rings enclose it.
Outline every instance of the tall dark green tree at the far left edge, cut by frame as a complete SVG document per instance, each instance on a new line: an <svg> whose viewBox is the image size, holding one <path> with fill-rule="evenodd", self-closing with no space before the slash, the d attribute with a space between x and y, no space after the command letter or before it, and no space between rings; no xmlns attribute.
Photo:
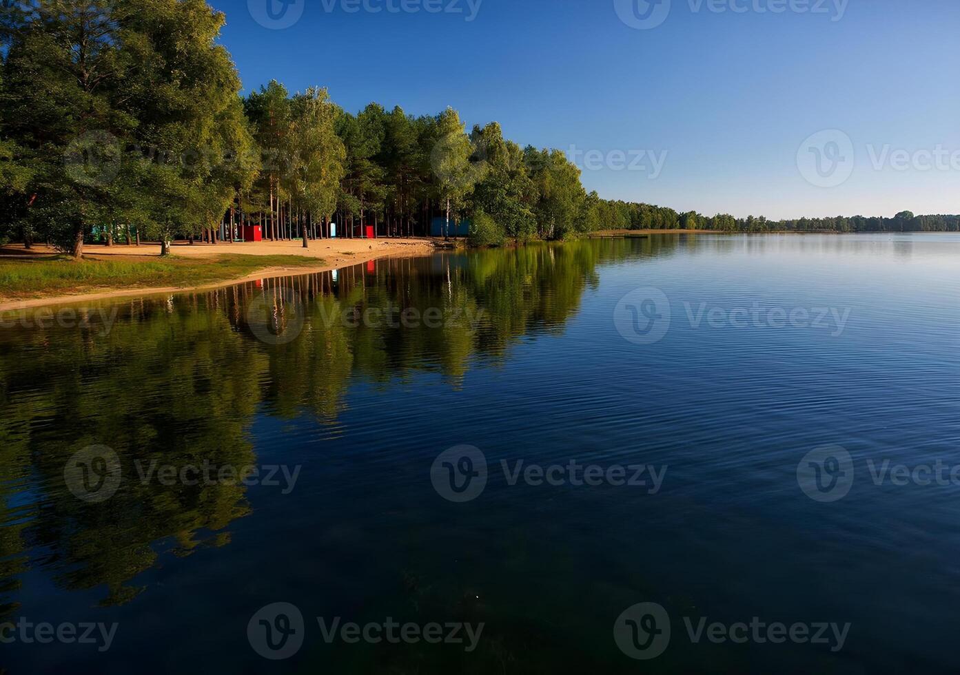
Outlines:
<svg viewBox="0 0 960 675"><path fill-rule="evenodd" d="M114 181L134 126L118 106L126 13L106 0L22 3L3 12L3 139L18 156L9 187L26 198L24 229L76 258L84 233L117 212Z"/></svg>

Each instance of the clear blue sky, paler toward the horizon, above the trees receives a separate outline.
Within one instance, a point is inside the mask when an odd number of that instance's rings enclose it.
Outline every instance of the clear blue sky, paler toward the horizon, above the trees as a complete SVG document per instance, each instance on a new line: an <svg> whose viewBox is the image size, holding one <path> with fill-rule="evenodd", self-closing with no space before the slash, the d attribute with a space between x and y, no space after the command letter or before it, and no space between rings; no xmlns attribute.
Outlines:
<svg viewBox="0 0 960 675"><path fill-rule="evenodd" d="M452 105L569 152L604 198L960 213L958 0L210 2L247 89Z"/></svg>

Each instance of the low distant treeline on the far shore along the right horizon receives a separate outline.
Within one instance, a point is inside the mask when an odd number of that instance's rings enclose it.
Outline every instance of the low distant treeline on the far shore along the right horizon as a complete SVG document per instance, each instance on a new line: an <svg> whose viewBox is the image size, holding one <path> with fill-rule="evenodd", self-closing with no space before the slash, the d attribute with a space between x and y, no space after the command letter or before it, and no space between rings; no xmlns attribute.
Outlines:
<svg viewBox="0 0 960 675"><path fill-rule="evenodd" d="M901 211L893 218L837 216L771 221L763 216L734 218L729 214L703 216L695 211L627 201L601 201L596 221L603 229L685 229L717 232L960 232L960 216L914 216Z"/></svg>

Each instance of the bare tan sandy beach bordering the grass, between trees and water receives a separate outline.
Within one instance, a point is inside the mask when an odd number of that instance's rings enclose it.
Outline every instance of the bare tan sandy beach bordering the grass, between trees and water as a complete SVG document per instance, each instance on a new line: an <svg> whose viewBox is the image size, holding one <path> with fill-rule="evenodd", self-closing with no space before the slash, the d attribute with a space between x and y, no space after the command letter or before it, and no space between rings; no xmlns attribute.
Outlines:
<svg viewBox="0 0 960 675"><path fill-rule="evenodd" d="M318 244L323 244L329 240L321 240L317 242ZM437 245L432 240L427 239L414 239L414 240L343 240L348 243L362 242L365 245L369 246L368 251L351 251L345 250L345 248L358 248L356 244L350 246L339 246L338 250L334 252L333 255L321 258L319 255L313 255L314 252L320 252L318 248L311 247L305 249L309 251L307 255L303 257L317 258L317 265L305 265L302 267L296 268L286 268L286 267L268 267L262 268L257 271L246 274L242 277L236 277L231 279L224 279L223 281L215 281L206 284L200 284L197 286L185 286L185 287L142 287L142 288L130 288L130 289L106 289L103 291L89 291L89 292L76 292L76 293L67 293L65 295L50 295L47 297L38 297L30 298L26 300L3 300L0 299L0 314L10 313L10 312L22 312L24 310L33 310L40 307L49 307L53 305L74 305L81 302L92 302L100 300L109 300L113 298L122 298L122 297L149 297L152 295L166 295L169 293L187 293L187 292L196 292L196 291L212 291L214 289L222 289L228 286L236 286L238 284L246 284L252 281L258 281L261 279L276 279L283 276L299 276L301 274L319 274L321 272L328 272L334 269L342 269L352 267L354 265L364 265L369 263L372 260L381 260L385 258L411 258L411 257L420 257L430 255L431 253L439 250ZM383 244L379 249L374 249L370 242L376 241L378 244ZM276 250L270 250L272 248L278 247L276 244L289 244L289 243L274 243L274 242L265 242L267 247L261 248L259 251L245 250L244 253L253 254L253 255L266 255L270 253L276 253ZM141 244L143 246L151 246L154 244ZM235 245L235 244L234 244ZM239 244L246 245L246 244ZM300 244L297 244L300 247L300 250L304 250ZM225 250L230 247L229 250ZM106 248L106 247L104 247ZM100 250L100 247L95 246L86 246L84 251L87 255L103 255L103 256L124 256L124 257L137 257L137 258L150 258L158 259L159 256L144 256L136 255L131 251L120 250L126 248L125 245L117 245L112 248L117 250L104 251ZM156 248L159 248L159 244L156 244ZM183 252L184 246L178 245L174 247L174 253ZM231 244L216 244L216 248L211 244L204 244L200 246L191 247L191 252L182 256L184 258L191 257L206 257L213 258L218 255L227 255L229 253L237 252L236 249L232 248ZM95 249L95 250L91 250ZM214 249L214 250L211 250ZM324 250L332 249L332 246L327 246ZM266 251L266 252L264 252ZM33 256L31 256L33 257Z"/></svg>

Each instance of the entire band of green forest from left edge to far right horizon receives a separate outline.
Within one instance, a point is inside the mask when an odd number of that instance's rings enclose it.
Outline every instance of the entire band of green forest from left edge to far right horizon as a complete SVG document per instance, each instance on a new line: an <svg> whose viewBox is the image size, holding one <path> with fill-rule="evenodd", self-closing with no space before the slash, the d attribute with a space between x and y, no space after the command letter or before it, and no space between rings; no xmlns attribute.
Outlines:
<svg viewBox="0 0 960 675"><path fill-rule="evenodd" d="M563 151L521 147L452 108L357 113L324 88L248 95L204 0L6 3L0 12L0 244L424 236L473 244L600 229L957 231L960 217L705 217L587 193ZM433 232L433 234L438 234Z"/></svg>

